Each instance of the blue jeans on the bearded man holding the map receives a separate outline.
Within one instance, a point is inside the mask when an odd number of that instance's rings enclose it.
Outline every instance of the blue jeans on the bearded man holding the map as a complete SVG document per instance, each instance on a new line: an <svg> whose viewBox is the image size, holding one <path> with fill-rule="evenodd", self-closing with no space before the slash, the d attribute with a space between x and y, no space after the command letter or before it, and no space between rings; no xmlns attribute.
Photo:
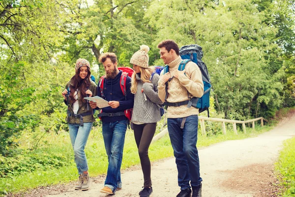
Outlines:
<svg viewBox="0 0 295 197"><path fill-rule="evenodd" d="M105 186L111 188L114 193L117 188L122 187L120 168L122 164L127 125L127 120L102 123L102 135L109 159Z"/></svg>

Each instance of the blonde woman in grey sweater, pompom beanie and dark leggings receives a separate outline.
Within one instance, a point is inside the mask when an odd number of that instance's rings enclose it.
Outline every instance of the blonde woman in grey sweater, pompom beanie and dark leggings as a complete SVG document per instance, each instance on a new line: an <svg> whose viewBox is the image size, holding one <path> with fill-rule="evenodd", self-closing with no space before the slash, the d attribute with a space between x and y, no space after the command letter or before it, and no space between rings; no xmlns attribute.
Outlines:
<svg viewBox="0 0 295 197"><path fill-rule="evenodd" d="M156 73L152 76L153 69L148 67L148 51L148 46L142 45L130 60L135 71L131 82L131 92L135 94L131 122L144 173L144 189L139 192L140 197L149 197L152 193L148 147L157 122L161 120L160 104L163 103L158 97L160 76Z"/></svg>

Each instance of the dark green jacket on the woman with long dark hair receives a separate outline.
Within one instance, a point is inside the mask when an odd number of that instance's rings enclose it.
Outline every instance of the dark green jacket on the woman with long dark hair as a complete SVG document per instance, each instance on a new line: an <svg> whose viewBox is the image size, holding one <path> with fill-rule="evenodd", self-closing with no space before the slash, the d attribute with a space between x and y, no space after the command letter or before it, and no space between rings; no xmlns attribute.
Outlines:
<svg viewBox="0 0 295 197"><path fill-rule="evenodd" d="M67 90L68 87L70 85L70 81L66 84L65 86L65 89ZM94 97L96 95L96 91L97 91L97 86L96 84L91 81L90 82L90 86L89 86L89 90L92 92L92 97ZM81 97L81 92L80 92L80 89L78 90L78 98ZM70 113L74 114L73 112L73 103L71 103L71 101L69 101L69 108L70 108ZM67 104L67 100L65 100L65 103ZM88 111L92 111L92 108L89 106L89 110L87 110L87 102L80 102L80 100L78 99L78 103L79 103L79 109L78 109L78 112L77 114L82 114L82 113L85 113L85 112L88 112ZM68 121L69 120L69 121ZM75 118L73 116L70 116L69 119L68 119L68 114L66 116L66 121L68 123L71 123L71 124L80 124L80 118ZM93 115L88 115L88 116L84 116L83 117L83 122L84 123L89 123L89 122L94 122L95 119L93 117Z"/></svg>

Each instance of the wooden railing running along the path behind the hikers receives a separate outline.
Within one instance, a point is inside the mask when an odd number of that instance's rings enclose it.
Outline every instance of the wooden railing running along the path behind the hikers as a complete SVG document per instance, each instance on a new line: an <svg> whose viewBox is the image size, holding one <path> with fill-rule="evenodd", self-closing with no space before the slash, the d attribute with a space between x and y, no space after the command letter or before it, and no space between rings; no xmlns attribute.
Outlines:
<svg viewBox="0 0 295 197"><path fill-rule="evenodd" d="M206 128L205 128L205 120L206 121L213 121L213 122L221 122L221 126L222 126L222 131L223 134L226 134L226 127L225 127L225 123L232 123L233 124L233 128L234 128L234 132L237 134L237 130L236 130L236 124L242 124L242 128L244 133L246 133L246 123L252 123L252 128L253 130L255 130L255 121L261 121L261 126L264 126L263 121L266 121L266 119L264 119L263 117L260 118L255 118L255 119L251 119L251 120L246 120L246 121L240 121L240 120L228 120L228 119L222 119L222 118L207 118L204 116L199 116L199 121L200 121L200 126L201 126L201 131L202 131L202 135L206 135ZM168 132L168 129L164 129L163 131L159 132L157 135L155 135L152 138L151 143L157 141L158 139L162 138L166 133Z"/></svg>

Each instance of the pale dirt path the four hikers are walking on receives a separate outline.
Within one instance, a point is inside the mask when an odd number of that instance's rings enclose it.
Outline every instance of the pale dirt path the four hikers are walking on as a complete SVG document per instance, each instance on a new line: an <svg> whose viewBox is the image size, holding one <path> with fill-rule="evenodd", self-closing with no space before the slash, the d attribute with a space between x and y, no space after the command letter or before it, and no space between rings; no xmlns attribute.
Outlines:
<svg viewBox="0 0 295 197"><path fill-rule="evenodd" d="M273 197L273 164L282 142L295 135L295 116L285 119L272 131L254 138L231 140L199 150L203 197ZM100 193L104 176L94 178L89 191L74 191L74 183L43 188L28 196L109 197ZM152 197L175 197L177 168L174 158L152 164ZM123 189L116 197L138 197L143 184L140 167L122 172Z"/></svg>

